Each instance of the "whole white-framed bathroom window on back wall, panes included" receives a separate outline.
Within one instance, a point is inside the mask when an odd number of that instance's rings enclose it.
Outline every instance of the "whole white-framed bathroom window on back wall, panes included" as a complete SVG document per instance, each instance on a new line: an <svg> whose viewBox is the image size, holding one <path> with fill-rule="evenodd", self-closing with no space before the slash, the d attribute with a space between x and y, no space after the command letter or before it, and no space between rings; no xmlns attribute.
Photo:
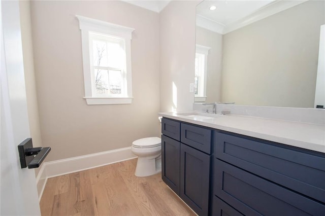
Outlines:
<svg viewBox="0 0 325 216"><path fill-rule="evenodd" d="M87 104L132 102L133 28L77 16Z"/></svg>

